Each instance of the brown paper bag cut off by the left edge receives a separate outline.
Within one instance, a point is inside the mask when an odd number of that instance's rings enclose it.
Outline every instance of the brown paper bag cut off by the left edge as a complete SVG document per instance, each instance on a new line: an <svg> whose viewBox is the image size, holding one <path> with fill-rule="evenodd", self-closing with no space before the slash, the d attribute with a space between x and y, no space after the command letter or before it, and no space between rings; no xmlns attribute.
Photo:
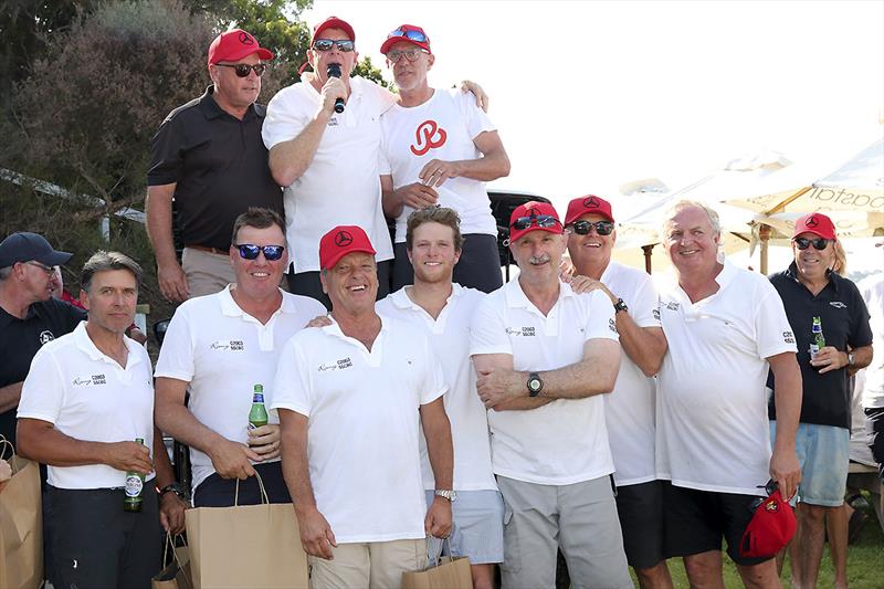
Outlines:
<svg viewBox="0 0 884 589"><path fill-rule="evenodd" d="M0 457L12 444L0 437ZM43 581L43 513L40 467L11 453L10 478L0 491L0 587L36 589Z"/></svg>

